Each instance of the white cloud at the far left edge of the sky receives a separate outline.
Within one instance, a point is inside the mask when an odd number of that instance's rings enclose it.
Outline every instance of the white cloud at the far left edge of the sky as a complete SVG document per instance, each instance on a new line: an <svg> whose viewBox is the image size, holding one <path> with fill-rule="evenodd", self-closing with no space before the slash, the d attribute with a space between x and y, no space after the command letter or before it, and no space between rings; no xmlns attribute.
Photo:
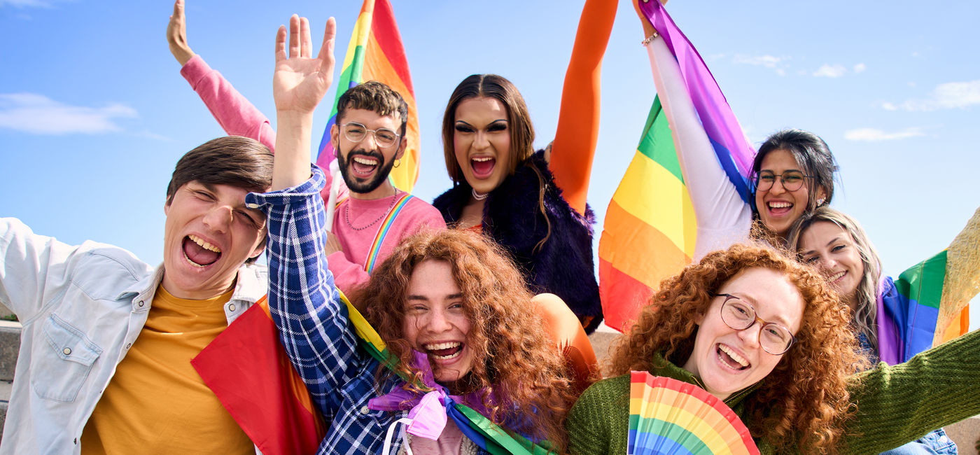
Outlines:
<svg viewBox="0 0 980 455"><path fill-rule="evenodd" d="M115 119L138 117L123 104L69 106L36 93L0 93L0 127L33 134L97 134L119 131Z"/></svg>

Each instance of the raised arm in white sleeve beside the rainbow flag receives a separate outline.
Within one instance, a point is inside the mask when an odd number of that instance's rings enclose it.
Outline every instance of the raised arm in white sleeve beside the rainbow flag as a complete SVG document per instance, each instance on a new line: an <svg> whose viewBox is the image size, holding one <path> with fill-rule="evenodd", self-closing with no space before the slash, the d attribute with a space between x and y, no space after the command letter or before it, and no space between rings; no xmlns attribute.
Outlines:
<svg viewBox="0 0 980 455"><path fill-rule="evenodd" d="M633 5L640 16L645 37L655 36L654 26L640 11L637 1L644 0L633 0ZM650 39L646 48L657 95L670 124L681 173L698 219L698 240L693 258L697 262L711 251L747 239L752 212L714 154L708 133L687 93L677 60L662 38Z"/></svg>

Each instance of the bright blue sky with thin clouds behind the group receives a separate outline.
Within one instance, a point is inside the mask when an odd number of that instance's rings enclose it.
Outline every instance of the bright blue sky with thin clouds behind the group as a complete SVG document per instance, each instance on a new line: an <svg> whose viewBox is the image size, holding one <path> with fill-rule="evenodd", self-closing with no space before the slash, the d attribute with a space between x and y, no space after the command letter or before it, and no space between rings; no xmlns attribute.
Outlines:
<svg viewBox="0 0 980 455"><path fill-rule="evenodd" d="M465 76L512 79L536 144L554 137L581 0L392 3L418 100L418 196L450 186L438 131ZM841 165L833 205L867 229L887 273L942 250L980 206L976 2L671 0L667 9L754 143L801 127L830 144ZM351 0L187 0L188 38L271 116L276 27L307 16L319 42L334 16L342 60L359 10ZM162 260L173 164L222 134L170 55L171 11L169 1L0 0L0 216L69 243L94 239ZM655 95L642 38L620 2L589 192L600 228ZM328 114L321 105L317 128ZM973 307L976 328L980 301Z"/></svg>

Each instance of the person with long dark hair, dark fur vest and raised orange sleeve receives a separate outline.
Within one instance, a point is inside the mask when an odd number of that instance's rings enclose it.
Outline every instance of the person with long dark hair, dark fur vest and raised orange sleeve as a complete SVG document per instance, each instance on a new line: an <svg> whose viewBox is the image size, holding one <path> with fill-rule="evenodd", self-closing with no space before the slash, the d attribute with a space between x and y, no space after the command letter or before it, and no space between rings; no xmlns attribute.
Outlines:
<svg viewBox="0 0 980 455"><path fill-rule="evenodd" d="M503 76L472 75L442 121L453 187L432 205L447 225L482 231L512 255L531 289L552 292L586 332L603 320L586 203L599 135L599 79L616 2L587 0L565 73L555 141L534 151L523 97Z"/></svg>

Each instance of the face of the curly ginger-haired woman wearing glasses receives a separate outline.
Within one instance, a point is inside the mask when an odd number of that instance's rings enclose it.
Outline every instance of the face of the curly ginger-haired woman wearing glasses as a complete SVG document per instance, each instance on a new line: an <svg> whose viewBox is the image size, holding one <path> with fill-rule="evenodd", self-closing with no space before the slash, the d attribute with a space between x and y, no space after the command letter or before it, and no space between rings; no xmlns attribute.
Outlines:
<svg viewBox="0 0 980 455"><path fill-rule="evenodd" d="M748 269L724 283L718 293L737 296L756 310L766 323L779 324L796 334L803 321L800 291L783 274L769 269ZM698 324L694 350L684 370L701 378L712 395L725 399L772 373L784 355L765 352L759 343L760 323L736 330L721 320L724 297L714 297Z"/></svg>

